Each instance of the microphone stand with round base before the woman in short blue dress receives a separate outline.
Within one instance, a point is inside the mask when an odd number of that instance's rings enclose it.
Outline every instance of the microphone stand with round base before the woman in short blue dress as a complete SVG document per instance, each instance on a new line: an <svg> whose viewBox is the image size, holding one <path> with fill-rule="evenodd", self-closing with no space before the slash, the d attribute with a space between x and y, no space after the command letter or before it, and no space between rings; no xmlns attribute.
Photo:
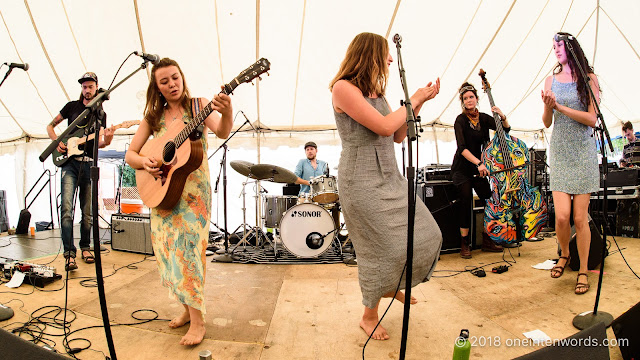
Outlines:
<svg viewBox="0 0 640 360"><path fill-rule="evenodd" d="M611 137L609 137L609 131L607 130L607 126L604 122L602 111L600 111L600 106L598 105L598 102L596 101L596 97L593 94L593 89L591 89L591 86L589 85L591 78L588 76L588 74L585 72L585 69L582 68L582 65L578 61L578 57L576 56L576 53L573 51L573 46L571 45L571 43L568 40L565 40L564 44L565 44L565 47L569 49L569 51L571 52L571 56L573 56L575 63L578 64L578 68L580 69L580 74L582 75L582 78L587 84L587 88L589 89L589 96L590 96L591 102L593 103L593 107L595 108L596 116L599 120L599 121L596 121L596 127L594 128L593 131L596 134L596 138L598 142L600 143L600 152L602 153L601 176L602 176L602 187L604 190L602 194L602 202L603 202L602 208L604 209L603 211L605 212L604 219L602 220L602 223L601 223L602 230L600 233L602 234L601 235L602 236L602 259L600 261L600 274L598 276L598 290L596 292L596 300L593 306L593 312L587 312L587 313L576 315L573 318L573 326L576 327L577 329L583 330L599 322L602 322L604 323L605 328L607 328L611 326L611 323L613 322L613 316L604 311L598 312L598 303L600 302L600 293L602 291L602 279L604 277L604 260L607 256L607 230L608 230L607 222L608 221L606 216L606 209L607 209L607 177L609 173L609 164L607 163L607 149L605 148L605 137L606 137L606 141L609 143L609 149L611 150L612 153L613 153L613 144L611 143Z"/></svg>

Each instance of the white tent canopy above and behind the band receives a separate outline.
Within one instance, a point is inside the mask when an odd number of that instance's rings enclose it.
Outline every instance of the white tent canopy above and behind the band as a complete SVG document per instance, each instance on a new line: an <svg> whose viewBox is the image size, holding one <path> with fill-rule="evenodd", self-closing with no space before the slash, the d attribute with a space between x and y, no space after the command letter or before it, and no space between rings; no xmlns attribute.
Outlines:
<svg viewBox="0 0 640 360"><path fill-rule="evenodd" d="M79 96L80 75L94 71L107 88L134 50L176 59L192 95L209 98L265 57L270 76L238 87L234 109L265 128L334 129L328 83L363 31L402 35L411 91L441 78L423 123L450 126L460 111L456 89L465 80L479 86L483 68L513 127L542 128L539 92L555 64L558 30L577 35L595 66L612 135L620 121L640 120L632 105L640 95L637 0L3 0L0 16L0 61L30 65L0 88L0 142L46 139L46 124ZM116 82L140 63L129 59ZM396 63L390 73L388 98L398 104ZM104 106L110 124L141 118L147 83L140 71L112 93Z"/></svg>

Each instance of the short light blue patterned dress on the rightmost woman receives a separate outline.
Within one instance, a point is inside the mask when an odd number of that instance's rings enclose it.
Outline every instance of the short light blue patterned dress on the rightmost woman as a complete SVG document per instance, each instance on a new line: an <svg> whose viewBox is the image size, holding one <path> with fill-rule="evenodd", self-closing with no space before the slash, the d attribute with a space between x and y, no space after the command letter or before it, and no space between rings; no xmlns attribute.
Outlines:
<svg viewBox="0 0 640 360"><path fill-rule="evenodd" d="M553 76L551 91L558 104L587 111L578 98L576 83L562 83ZM553 133L550 146L551 191L567 194L589 194L600 188L598 155L593 128L581 124L559 111L553 111Z"/></svg>

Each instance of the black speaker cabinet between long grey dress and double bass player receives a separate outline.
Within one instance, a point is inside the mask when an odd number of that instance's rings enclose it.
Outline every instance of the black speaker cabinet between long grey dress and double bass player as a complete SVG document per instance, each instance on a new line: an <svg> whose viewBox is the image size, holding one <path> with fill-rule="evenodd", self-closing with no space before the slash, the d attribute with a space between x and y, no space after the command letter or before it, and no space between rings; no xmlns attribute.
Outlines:
<svg viewBox="0 0 640 360"><path fill-rule="evenodd" d="M460 251L460 222L455 201L458 192L452 181L427 181L417 186L417 196L422 199L442 232L441 252Z"/></svg>

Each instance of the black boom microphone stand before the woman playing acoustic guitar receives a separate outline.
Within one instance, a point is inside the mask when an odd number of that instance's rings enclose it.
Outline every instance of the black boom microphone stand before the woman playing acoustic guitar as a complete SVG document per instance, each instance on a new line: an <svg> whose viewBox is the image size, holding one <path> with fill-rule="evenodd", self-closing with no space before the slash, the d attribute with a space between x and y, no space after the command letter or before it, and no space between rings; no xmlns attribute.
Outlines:
<svg viewBox="0 0 640 360"><path fill-rule="evenodd" d="M104 111L102 110L102 103L109 100L111 92L122 85L125 81L129 80L138 71L147 67L147 60L145 60L140 67L134 70L129 76L125 77L117 83L114 87L106 90L105 92L97 94L91 102L89 102L85 109L78 117L73 120L63 132L58 136L56 140L53 140L51 144L40 154L40 161L44 162L53 150L58 146L61 139L64 139L72 129L76 128L76 125L80 123L85 117L88 116L87 128L91 128L91 124L95 124L95 138L93 146L93 163L91 165L91 213L92 213L92 227L93 227L93 253L96 264L96 282L98 283L98 297L100 299L100 310L102 312L102 323L104 326L105 336L107 338L107 345L109 347L109 355L111 359L117 360L116 349L113 344L113 337L111 336L111 326L109 325L109 312L107 310L107 300L104 292L104 277L102 276L102 260L100 256L100 228L98 227L98 182L100 180L100 168L98 167L98 144L100 142L100 128L104 119Z"/></svg>

